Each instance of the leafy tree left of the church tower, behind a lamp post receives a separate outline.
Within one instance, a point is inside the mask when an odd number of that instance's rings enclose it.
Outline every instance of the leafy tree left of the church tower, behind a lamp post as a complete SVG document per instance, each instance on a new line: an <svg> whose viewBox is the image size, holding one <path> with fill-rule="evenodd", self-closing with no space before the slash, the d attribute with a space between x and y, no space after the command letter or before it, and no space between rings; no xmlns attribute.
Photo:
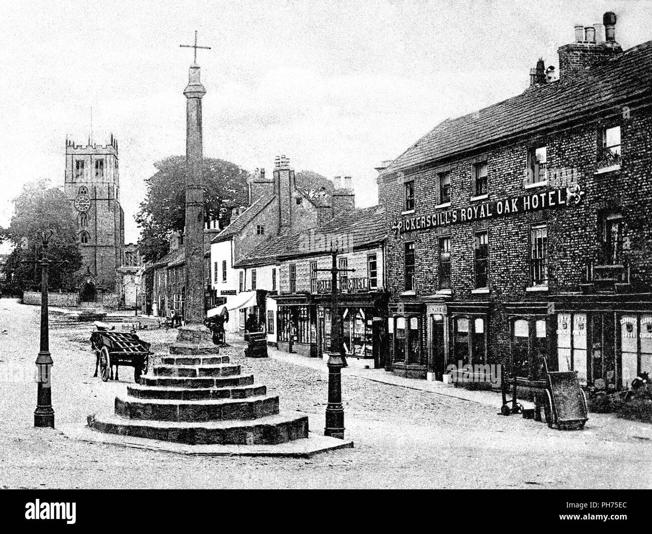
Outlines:
<svg viewBox="0 0 652 534"><path fill-rule="evenodd" d="M74 273L82 266L77 217L63 191L48 188L48 182L42 180L23 185L20 195L14 198L10 225L0 232L0 240L14 243L14 250L5 264L12 291L40 288L40 266L24 262L41 258L40 236L46 230L53 232L48 258L63 262L50 269L49 287L55 291L74 289Z"/></svg>

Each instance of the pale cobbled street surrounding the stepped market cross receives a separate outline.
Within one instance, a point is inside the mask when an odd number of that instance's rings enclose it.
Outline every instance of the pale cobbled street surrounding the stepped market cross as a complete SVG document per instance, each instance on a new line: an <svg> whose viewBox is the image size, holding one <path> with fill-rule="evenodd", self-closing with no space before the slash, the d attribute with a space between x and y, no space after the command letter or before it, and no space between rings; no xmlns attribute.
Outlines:
<svg viewBox="0 0 652 534"><path fill-rule="evenodd" d="M92 323L50 315L55 424L83 426L113 411L115 394L133 381L93 378ZM120 328L120 326L118 327ZM192 457L98 445L33 428L39 309L0 300L0 486L3 488L647 488L652 428L590 414L584 431L559 432L496 408L354 376L344 369L346 437L355 447L310 459ZM175 330L138 332L164 351ZM327 369L223 354L280 396L282 411L310 418L323 432ZM311 362L314 364L314 362Z"/></svg>

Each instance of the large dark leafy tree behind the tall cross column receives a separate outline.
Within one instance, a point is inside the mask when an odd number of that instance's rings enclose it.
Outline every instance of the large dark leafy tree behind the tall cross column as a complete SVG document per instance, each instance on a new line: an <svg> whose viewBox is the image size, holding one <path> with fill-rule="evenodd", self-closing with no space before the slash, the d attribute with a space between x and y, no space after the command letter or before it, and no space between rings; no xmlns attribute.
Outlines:
<svg viewBox="0 0 652 534"><path fill-rule="evenodd" d="M141 229L138 246L145 261L156 261L169 250L170 232L185 225L186 158L170 156L157 161L156 172L147 178L147 196L140 204L136 223ZM205 220L218 219L226 226L231 208L247 204L248 172L222 159L204 158Z"/></svg>

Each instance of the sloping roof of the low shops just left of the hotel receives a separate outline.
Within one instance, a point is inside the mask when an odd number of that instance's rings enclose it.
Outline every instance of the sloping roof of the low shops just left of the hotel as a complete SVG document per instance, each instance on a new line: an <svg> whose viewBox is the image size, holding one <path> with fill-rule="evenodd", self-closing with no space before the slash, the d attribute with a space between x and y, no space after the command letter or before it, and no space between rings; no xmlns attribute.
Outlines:
<svg viewBox="0 0 652 534"><path fill-rule="evenodd" d="M288 236L274 236L263 241L247 257L235 264L237 268L269 265L276 260L292 257L314 255L315 252L306 253L299 249L302 237L306 238L310 232L319 234L347 234L353 247L364 247L379 243L385 239L385 209L381 206L372 206L343 213L331 219L329 223L313 230L304 230ZM319 252L318 252L319 253ZM319 254L324 254L321 252Z"/></svg>

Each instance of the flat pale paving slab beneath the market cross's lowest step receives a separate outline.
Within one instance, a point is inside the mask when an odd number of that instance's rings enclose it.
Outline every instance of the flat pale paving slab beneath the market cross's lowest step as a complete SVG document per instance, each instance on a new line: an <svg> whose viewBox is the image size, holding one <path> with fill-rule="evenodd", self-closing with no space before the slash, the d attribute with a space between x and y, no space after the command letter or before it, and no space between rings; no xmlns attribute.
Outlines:
<svg viewBox="0 0 652 534"><path fill-rule="evenodd" d="M295 439L278 445L186 445L171 441L156 441L142 437L129 437L119 434L105 434L96 432L87 426L64 424L57 428L65 437L78 439L87 443L101 443L102 445L117 445L119 447L132 447L156 452L170 452L186 456L275 456L280 458L310 458L319 452L327 452L339 448L353 447L352 441L343 441L334 437L327 437L308 433L308 439Z"/></svg>

